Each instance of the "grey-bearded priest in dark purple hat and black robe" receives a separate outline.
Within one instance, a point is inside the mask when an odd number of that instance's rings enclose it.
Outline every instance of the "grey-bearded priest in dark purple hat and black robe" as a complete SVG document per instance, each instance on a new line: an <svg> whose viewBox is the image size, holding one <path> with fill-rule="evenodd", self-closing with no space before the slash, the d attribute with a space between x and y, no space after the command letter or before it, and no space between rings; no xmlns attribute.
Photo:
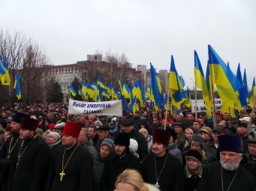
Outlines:
<svg viewBox="0 0 256 191"><path fill-rule="evenodd" d="M198 190L256 190L255 178L239 165L242 159L241 138L221 135L218 139L220 161L203 169Z"/></svg>

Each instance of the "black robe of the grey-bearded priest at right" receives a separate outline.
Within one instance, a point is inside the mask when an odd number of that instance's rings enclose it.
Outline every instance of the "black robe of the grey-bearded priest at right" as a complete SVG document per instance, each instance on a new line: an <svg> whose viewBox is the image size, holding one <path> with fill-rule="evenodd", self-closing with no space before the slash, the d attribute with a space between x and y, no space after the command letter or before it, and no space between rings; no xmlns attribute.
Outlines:
<svg viewBox="0 0 256 191"><path fill-rule="evenodd" d="M221 180L221 169L223 180ZM224 187L223 189L222 182ZM228 171L221 167L220 162L213 162L212 164L206 166L205 169L203 169L203 174L198 185L198 190L227 190L228 187L229 191L256 190L255 178L252 176L252 174L250 174L250 172L247 172L247 169L244 169L244 167L239 166L238 171Z"/></svg>

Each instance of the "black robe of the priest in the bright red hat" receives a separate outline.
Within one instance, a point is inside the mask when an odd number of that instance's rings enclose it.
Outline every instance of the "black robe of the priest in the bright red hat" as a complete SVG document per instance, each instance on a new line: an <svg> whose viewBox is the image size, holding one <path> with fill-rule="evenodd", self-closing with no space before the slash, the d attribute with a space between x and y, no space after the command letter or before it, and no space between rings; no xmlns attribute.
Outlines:
<svg viewBox="0 0 256 191"><path fill-rule="evenodd" d="M65 147L62 146L62 148L58 149L56 154L53 155L52 164L50 167L50 172L48 174L48 181L45 190L93 190L92 155L89 154L89 152L87 152L87 150L84 149L83 147L77 146L76 148L76 146L77 144L72 146L70 149L66 149ZM64 149L66 149L66 152L63 156ZM74 149L76 150L74 151ZM74 153L72 154L72 152ZM68 160L69 162L67 163ZM65 175L63 176L63 180L61 181L60 173L62 172L62 161L63 167L66 165L66 168L63 170Z"/></svg>

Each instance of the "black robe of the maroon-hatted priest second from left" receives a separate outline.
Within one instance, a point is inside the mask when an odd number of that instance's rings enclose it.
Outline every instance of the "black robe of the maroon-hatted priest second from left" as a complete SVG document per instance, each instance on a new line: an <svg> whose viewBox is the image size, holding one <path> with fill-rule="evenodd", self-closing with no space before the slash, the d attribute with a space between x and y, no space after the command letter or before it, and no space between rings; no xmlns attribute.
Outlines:
<svg viewBox="0 0 256 191"><path fill-rule="evenodd" d="M42 138L35 136L24 141L20 153L23 154L12 178L12 190L44 190L50 161L48 145ZM14 164L17 164L17 157Z"/></svg>

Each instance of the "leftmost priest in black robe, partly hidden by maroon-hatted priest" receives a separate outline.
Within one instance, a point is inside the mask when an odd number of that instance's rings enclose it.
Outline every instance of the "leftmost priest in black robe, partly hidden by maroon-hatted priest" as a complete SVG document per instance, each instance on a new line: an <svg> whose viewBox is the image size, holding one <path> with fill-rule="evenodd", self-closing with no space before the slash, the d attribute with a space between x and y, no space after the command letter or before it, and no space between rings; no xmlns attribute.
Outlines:
<svg viewBox="0 0 256 191"><path fill-rule="evenodd" d="M14 173L14 167L12 167L12 164L20 141L19 131L22 117L30 118L30 116L25 113L17 112L14 114L10 124L11 136L6 139L4 145L0 149L0 190L10 190L9 180Z"/></svg>

